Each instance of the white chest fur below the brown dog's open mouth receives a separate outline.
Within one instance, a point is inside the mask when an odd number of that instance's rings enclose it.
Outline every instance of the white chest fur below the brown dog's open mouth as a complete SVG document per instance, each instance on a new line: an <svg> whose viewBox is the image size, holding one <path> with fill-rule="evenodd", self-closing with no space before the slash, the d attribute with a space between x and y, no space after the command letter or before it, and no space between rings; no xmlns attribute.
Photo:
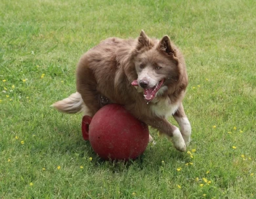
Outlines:
<svg viewBox="0 0 256 199"><path fill-rule="evenodd" d="M179 108L179 103L171 103L169 98L161 99L151 105L152 112L158 117L170 117Z"/></svg>

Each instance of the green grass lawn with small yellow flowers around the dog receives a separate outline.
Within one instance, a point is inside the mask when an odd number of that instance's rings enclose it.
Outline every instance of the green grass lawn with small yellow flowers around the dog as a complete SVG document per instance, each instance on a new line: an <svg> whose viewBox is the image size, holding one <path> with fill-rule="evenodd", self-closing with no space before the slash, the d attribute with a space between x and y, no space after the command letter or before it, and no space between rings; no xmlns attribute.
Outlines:
<svg viewBox="0 0 256 199"><path fill-rule="evenodd" d="M2 0L0 198L256 197L255 27L253 0ZM184 53L193 158L152 130L156 145L138 160L104 162L82 139L81 115L50 107L75 92L83 52L140 29Z"/></svg>

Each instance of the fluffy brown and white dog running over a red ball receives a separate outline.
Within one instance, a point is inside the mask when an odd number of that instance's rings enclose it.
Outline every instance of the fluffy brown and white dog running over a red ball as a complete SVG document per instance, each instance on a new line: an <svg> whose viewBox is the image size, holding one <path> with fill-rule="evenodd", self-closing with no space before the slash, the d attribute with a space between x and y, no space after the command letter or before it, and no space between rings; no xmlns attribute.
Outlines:
<svg viewBox="0 0 256 199"><path fill-rule="evenodd" d="M177 46L167 35L152 39L142 30L137 39L110 37L86 52L77 65L77 91L53 107L93 117L104 105L118 103L184 152L191 135L182 105L187 85ZM170 116L181 130L167 120Z"/></svg>

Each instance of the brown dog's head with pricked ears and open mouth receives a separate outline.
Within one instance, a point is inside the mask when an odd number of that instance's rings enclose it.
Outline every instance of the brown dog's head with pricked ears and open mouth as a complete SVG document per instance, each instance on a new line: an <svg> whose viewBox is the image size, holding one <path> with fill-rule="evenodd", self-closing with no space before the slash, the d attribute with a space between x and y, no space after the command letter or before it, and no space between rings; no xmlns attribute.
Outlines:
<svg viewBox="0 0 256 199"><path fill-rule="evenodd" d="M175 86L181 75L179 64L184 65L182 55L167 35L158 41L150 39L144 31L138 38L133 60L138 79L132 84L138 86L139 92L144 92L146 101L152 101Z"/></svg>

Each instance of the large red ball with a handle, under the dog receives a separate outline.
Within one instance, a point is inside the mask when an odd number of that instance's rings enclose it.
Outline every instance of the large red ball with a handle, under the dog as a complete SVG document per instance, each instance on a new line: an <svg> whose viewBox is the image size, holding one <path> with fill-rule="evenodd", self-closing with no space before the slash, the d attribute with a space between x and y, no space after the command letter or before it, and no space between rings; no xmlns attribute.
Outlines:
<svg viewBox="0 0 256 199"><path fill-rule="evenodd" d="M82 133L104 160L135 159L149 141L148 125L117 104L102 107L93 118L85 115Z"/></svg>

